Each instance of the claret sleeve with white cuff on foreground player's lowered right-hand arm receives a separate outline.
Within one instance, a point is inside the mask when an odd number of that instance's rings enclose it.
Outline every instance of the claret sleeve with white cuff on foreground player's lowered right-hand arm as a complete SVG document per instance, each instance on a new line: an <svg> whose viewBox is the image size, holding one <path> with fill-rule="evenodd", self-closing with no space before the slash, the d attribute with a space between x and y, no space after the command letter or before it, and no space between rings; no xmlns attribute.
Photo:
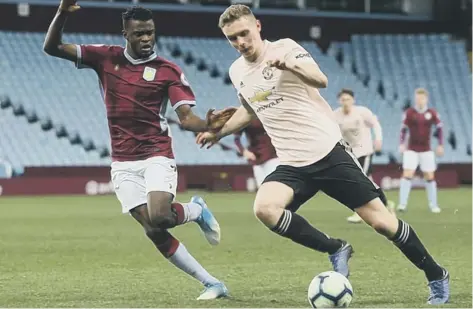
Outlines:
<svg viewBox="0 0 473 309"><path fill-rule="evenodd" d="M187 81L184 72L177 66L169 66L163 69L163 73L169 79L168 96L169 102L174 110L181 105L195 105L195 95Z"/></svg>

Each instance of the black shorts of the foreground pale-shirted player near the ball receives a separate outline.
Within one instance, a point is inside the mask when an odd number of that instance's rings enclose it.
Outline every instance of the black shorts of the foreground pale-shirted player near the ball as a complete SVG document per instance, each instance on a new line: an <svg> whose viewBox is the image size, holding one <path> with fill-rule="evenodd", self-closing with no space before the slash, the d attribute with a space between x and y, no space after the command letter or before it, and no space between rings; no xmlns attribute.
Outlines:
<svg viewBox="0 0 473 309"><path fill-rule="evenodd" d="M294 190L293 201L286 207L297 211L318 191L350 209L380 197L380 190L364 173L347 146L337 143L333 150L314 164L294 167L279 165L263 183L276 181Z"/></svg>

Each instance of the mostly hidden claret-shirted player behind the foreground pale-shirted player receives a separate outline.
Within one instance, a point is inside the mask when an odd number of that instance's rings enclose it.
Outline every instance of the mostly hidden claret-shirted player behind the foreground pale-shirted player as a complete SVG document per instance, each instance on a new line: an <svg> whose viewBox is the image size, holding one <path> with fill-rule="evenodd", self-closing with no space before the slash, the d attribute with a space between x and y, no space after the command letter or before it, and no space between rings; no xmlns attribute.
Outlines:
<svg viewBox="0 0 473 309"><path fill-rule="evenodd" d="M241 143L243 133L248 140L248 148L245 148ZM238 151L253 166L253 175L259 188L266 176L271 174L279 165L279 159L273 144L271 144L271 138L258 119L254 119L246 128L234 135Z"/></svg>

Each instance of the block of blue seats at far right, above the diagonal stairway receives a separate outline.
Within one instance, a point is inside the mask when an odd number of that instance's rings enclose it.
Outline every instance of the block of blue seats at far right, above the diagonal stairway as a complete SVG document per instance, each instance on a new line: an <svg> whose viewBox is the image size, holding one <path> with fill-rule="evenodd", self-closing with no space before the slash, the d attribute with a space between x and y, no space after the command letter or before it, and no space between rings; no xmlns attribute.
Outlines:
<svg viewBox="0 0 473 309"><path fill-rule="evenodd" d="M455 140L439 162L471 162L472 80L464 42L447 34L354 35L333 44L332 54L397 110L412 104L415 88L426 88L446 137Z"/></svg>

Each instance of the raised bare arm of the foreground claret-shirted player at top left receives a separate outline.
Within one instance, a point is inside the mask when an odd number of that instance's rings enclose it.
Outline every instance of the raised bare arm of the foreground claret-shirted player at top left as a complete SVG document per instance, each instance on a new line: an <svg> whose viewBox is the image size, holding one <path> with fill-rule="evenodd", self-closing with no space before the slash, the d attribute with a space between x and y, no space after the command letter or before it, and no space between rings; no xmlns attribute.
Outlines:
<svg viewBox="0 0 473 309"><path fill-rule="evenodd" d="M75 0L61 0L56 16L49 26L43 50L51 56L77 62L77 45L62 42L62 31L67 17L80 9Z"/></svg>

